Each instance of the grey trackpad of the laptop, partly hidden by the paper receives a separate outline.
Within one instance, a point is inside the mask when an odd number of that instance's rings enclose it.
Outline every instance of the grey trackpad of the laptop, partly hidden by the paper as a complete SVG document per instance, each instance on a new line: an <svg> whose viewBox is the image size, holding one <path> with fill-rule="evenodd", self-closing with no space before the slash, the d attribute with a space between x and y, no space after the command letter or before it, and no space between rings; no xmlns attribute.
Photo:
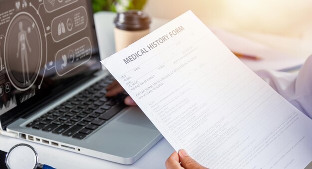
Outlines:
<svg viewBox="0 0 312 169"><path fill-rule="evenodd" d="M150 121L150 119L142 112L139 107L130 107L128 111L128 113L118 119L118 122L157 130L153 123Z"/></svg>

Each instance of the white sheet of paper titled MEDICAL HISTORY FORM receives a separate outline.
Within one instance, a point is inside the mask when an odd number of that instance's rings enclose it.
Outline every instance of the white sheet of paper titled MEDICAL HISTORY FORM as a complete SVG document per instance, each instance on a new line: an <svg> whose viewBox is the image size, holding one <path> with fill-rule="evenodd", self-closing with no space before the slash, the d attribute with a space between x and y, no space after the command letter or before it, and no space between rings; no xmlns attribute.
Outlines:
<svg viewBox="0 0 312 169"><path fill-rule="evenodd" d="M102 63L176 150L212 169L299 169L312 120L188 11Z"/></svg>

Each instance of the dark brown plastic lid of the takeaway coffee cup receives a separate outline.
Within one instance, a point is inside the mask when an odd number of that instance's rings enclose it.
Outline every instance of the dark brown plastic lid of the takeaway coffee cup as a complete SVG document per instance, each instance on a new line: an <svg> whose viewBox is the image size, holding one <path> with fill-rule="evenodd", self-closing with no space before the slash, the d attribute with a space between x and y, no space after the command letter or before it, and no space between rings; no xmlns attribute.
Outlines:
<svg viewBox="0 0 312 169"><path fill-rule="evenodd" d="M140 10L129 10L118 13L114 23L122 30L145 30L150 28L150 17Z"/></svg>

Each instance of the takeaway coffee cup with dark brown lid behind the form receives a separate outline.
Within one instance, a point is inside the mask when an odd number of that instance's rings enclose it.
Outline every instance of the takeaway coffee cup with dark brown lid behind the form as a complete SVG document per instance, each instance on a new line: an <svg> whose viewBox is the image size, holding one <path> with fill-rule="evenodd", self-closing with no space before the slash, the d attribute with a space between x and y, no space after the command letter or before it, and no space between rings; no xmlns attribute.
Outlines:
<svg viewBox="0 0 312 169"><path fill-rule="evenodd" d="M151 19L146 13L140 10L118 13L114 23L115 47L117 52L150 33Z"/></svg>

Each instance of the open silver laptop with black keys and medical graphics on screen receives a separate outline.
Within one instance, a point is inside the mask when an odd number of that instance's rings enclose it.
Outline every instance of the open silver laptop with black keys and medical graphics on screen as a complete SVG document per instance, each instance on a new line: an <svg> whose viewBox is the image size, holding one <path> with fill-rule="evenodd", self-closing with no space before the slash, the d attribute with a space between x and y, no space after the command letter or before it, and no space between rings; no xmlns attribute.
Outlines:
<svg viewBox="0 0 312 169"><path fill-rule="evenodd" d="M1 134L120 164L161 138L100 63L91 0L0 0Z"/></svg>

